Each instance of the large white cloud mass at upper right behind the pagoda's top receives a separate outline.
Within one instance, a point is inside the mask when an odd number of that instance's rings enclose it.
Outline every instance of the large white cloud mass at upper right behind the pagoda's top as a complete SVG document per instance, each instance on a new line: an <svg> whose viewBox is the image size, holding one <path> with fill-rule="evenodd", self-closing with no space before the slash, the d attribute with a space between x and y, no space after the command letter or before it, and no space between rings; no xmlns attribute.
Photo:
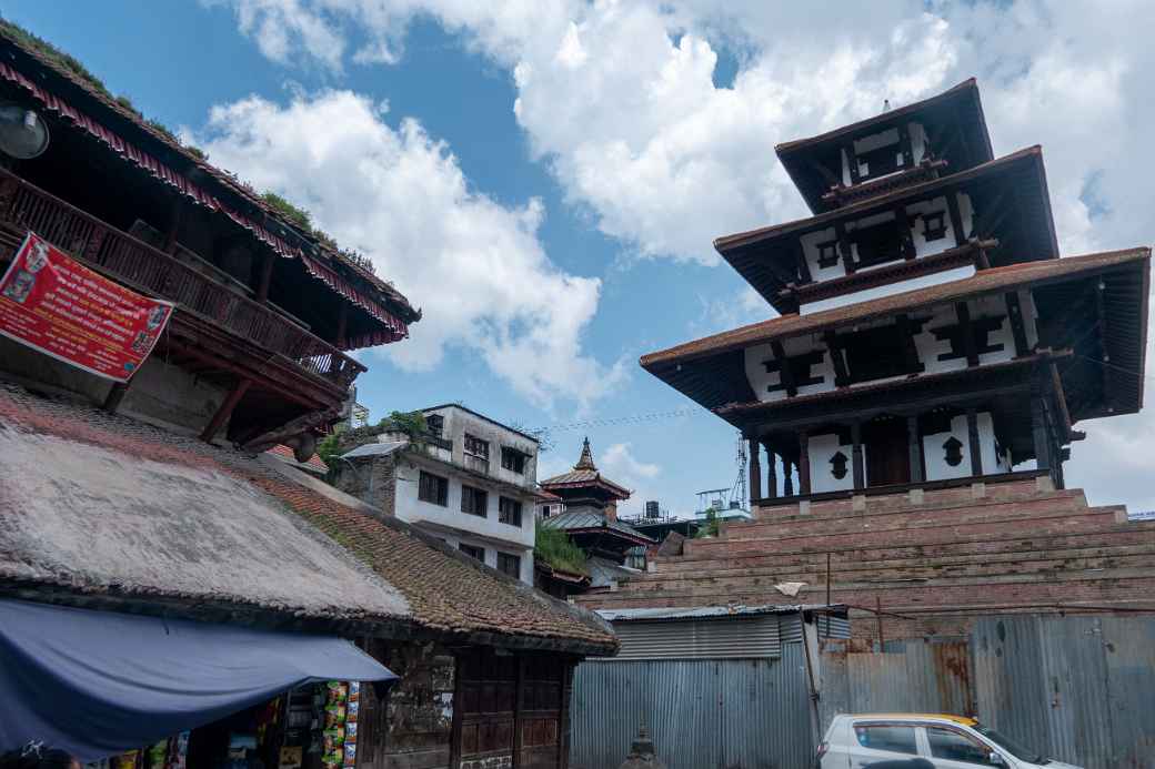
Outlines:
<svg viewBox="0 0 1155 769"><path fill-rule="evenodd" d="M276 59L284 46L276 35L261 39L255 0L234 1L251 15L243 29ZM774 159L776 142L971 75L997 152L1044 145L1064 253L1152 240L1155 7L1141 0L1093 9L1045 0L277 5L301 16L284 33L330 68L335 46L304 30L340 20L357 45L393 55L417 15L461 32L512 73L509 106L567 200L636 254L716 263L714 237L805 215ZM738 70L720 87L723 47ZM1135 436L1155 427L1153 415L1090 425L1091 440L1075 447L1078 475L1115 478ZM1155 505L1138 480L1128 486L1113 493Z"/></svg>

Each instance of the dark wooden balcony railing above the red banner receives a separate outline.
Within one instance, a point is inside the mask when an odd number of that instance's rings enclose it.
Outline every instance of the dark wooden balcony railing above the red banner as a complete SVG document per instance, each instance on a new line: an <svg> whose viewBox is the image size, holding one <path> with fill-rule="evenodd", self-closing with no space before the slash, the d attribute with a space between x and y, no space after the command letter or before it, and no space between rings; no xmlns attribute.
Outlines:
<svg viewBox="0 0 1155 769"><path fill-rule="evenodd" d="M118 283L174 301L181 311L280 353L342 388L365 371L365 366L269 306L2 169L0 223L18 234L31 230Z"/></svg>

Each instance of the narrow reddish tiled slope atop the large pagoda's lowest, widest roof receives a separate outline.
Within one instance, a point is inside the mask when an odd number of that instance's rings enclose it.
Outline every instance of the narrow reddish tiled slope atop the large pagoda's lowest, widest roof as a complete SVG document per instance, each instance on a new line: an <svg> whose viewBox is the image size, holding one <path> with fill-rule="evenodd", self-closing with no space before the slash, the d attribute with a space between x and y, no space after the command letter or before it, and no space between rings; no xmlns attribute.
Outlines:
<svg viewBox="0 0 1155 769"><path fill-rule="evenodd" d="M668 350L641 357L644 368L696 358L702 354L723 352L762 344L772 339L810 334L852 322L865 322L885 318L912 308L1000 291L1012 286L1074 277L1082 272L1094 272L1112 267L1133 264L1150 259L1150 248L1127 248L1108 251L1082 256L1067 256L1041 262L1024 262L981 270L960 281L906 291L889 297L859 301L810 315L781 315L770 320L743 326L730 331L715 334L693 342L686 342Z"/></svg>

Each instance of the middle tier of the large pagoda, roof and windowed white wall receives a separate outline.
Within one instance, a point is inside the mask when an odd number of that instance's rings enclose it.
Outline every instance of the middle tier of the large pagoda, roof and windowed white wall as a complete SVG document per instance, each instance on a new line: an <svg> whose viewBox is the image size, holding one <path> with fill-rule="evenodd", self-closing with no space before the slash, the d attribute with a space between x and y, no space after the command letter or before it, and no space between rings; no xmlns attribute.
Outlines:
<svg viewBox="0 0 1155 769"><path fill-rule="evenodd" d="M932 233L932 226L939 231ZM996 267L1058 257L1042 148L1029 147L818 216L717 238L714 247L759 294L787 313L807 291L832 288L845 277L877 282L896 268L919 275L949 269L959 260L939 256L974 244L982 244L982 259Z"/></svg>

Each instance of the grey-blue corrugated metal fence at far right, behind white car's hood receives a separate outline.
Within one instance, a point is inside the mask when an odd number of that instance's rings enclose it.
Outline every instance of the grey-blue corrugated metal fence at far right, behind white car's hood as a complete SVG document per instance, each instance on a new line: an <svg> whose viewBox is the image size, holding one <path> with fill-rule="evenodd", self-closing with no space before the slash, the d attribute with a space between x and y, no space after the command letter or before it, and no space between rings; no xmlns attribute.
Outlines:
<svg viewBox="0 0 1155 769"><path fill-rule="evenodd" d="M971 640L983 721L1087 769L1155 769L1155 619L988 618Z"/></svg>

